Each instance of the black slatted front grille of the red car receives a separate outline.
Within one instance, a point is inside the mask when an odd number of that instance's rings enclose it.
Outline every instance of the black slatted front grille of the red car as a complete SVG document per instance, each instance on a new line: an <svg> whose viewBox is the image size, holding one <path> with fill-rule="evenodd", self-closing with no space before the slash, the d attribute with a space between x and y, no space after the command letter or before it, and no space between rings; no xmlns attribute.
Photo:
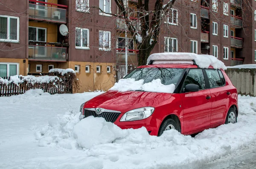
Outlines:
<svg viewBox="0 0 256 169"><path fill-rule="evenodd" d="M89 117L90 115L93 115L93 117L103 117L108 122L115 122L120 113L109 113L109 112L103 112L99 115L96 114L95 111L92 110L84 110L84 118Z"/></svg>

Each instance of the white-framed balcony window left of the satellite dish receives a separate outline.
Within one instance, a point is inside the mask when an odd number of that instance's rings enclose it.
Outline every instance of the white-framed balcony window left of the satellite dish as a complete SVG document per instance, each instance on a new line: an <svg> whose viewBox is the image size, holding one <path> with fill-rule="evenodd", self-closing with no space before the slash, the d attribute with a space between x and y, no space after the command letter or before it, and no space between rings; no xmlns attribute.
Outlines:
<svg viewBox="0 0 256 169"><path fill-rule="evenodd" d="M29 26L29 40L46 42L47 28Z"/></svg>

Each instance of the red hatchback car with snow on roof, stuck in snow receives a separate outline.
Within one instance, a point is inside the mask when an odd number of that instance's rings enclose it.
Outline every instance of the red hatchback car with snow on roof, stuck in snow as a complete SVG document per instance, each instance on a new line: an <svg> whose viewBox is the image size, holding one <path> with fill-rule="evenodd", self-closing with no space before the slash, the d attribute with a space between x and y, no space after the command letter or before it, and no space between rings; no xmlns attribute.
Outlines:
<svg viewBox="0 0 256 169"><path fill-rule="evenodd" d="M122 129L145 127L184 135L236 123L238 93L214 56L160 53L148 57L107 92L81 105L81 118L105 118Z"/></svg>

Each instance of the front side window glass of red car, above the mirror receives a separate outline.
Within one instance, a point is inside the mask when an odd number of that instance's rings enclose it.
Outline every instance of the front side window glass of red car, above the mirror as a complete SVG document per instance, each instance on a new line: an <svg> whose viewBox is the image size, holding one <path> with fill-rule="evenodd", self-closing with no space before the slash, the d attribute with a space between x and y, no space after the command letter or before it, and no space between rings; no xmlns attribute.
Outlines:
<svg viewBox="0 0 256 169"><path fill-rule="evenodd" d="M183 87L188 84L195 84L199 86L200 89L205 89L205 80L202 69L190 69L188 75L186 76Z"/></svg>

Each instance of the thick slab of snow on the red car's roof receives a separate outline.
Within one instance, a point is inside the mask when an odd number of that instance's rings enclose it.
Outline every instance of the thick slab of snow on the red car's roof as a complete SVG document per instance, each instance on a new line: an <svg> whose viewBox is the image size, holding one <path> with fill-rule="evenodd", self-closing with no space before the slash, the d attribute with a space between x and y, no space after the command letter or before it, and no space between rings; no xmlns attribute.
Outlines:
<svg viewBox="0 0 256 169"><path fill-rule="evenodd" d="M227 67L224 65L223 62L218 60L215 56L212 55L198 55L194 53L182 53L182 52L177 52L177 53L157 53L157 54L151 54L148 57L147 60L147 65L150 61L179 61L179 63L182 63L180 61L184 61L184 63L188 60L195 60L195 63L200 67L200 68L209 68L209 66L212 66L215 69L223 69L226 70Z"/></svg>

